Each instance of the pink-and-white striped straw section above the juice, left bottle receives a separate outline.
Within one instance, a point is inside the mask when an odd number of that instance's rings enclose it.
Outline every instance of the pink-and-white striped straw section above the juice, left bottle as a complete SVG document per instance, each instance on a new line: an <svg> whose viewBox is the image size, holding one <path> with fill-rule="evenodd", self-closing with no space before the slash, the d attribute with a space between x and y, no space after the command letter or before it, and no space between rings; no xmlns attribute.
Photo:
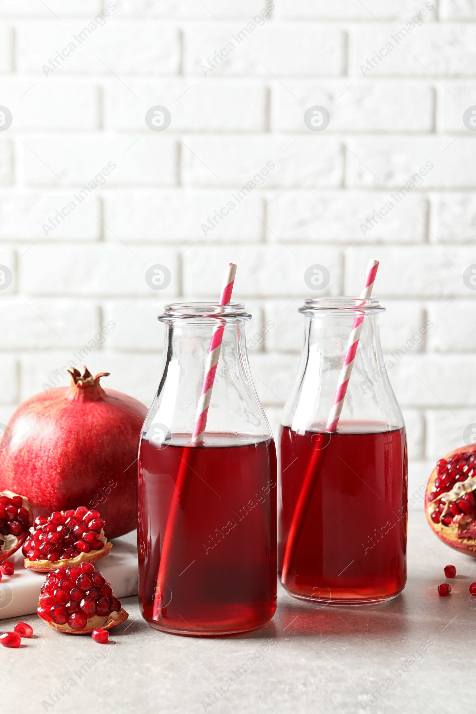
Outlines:
<svg viewBox="0 0 476 714"><path fill-rule="evenodd" d="M221 288L220 304L229 305L231 301L231 292L233 291L233 282L235 281L236 265L228 263L225 277L223 278L223 286ZM202 391L198 400L197 415L193 425L193 433L191 444L196 446L202 443L203 434L205 433L206 420L208 416L208 407L210 406L211 391L213 381L215 381L215 373L220 358L221 341L223 339L223 331L225 324L222 322L213 329L210 346L208 347L208 358L205 368L205 376L203 377Z"/></svg>

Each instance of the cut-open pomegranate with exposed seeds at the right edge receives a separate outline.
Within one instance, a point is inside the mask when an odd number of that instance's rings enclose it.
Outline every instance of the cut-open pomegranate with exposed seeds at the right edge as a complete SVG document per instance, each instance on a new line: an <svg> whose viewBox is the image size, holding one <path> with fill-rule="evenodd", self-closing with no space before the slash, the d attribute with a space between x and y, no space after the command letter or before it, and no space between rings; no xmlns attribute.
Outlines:
<svg viewBox="0 0 476 714"><path fill-rule="evenodd" d="M476 558L476 448L440 458L425 493L428 523L443 543Z"/></svg>

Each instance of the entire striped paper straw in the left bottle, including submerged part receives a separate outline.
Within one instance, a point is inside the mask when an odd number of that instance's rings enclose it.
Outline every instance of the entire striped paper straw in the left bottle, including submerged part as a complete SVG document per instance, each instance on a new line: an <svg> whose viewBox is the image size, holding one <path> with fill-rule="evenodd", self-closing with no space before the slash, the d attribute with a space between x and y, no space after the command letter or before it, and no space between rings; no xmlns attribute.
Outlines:
<svg viewBox="0 0 476 714"><path fill-rule="evenodd" d="M236 265L228 263L225 277L223 278L223 286L221 288L220 305L228 305L231 301L231 292L233 291L233 282L235 281ZM219 325L213 328L210 345L208 346L208 357L205 368L205 376L198 400L197 413L195 423L193 425L193 433L191 438L191 446L199 446L203 442L203 435L206 428L206 420L208 416L208 407L210 406L211 392L213 381L215 380L218 358L220 357L221 341L223 340L223 331L225 330L225 322L222 320ZM196 460L197 450L195 448L187 448L185 450L185 458L181 458L180 466L175 488L171 500L171 507L168 511L166 531L163 535L161 562L158 566L156 596L153 600L153 620L162 621L163 603L166 601L166 593L164 586L167 583L168 575L173 559L173 549L180 530L183 509L190 487L191 477L193 473L193 465ZM159 536L160 537L160 536Z"/></svg>

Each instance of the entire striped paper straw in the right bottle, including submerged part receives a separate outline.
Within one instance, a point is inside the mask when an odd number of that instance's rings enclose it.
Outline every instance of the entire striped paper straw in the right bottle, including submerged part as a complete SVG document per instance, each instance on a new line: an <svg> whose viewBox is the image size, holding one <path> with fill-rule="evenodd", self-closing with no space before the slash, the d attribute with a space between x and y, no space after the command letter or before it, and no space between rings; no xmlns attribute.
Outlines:
<svg viewBox="0 0 476 714"><path fill-rule="evenodd" d="M368 263L367 274L365 275L362 292L360 293L360 298L362 300L368 300L368 298L370 298L370 295L372 294L372 288L373 283L375 282L377 269L378 261L370 260ZM345 393L347 392L347 388L349 385L350 374L352 373L352 368L355 361L355 353L357 352L360 331L362 330L364 318L364 313L361 313L356 318L354 318L353 321L352 331L350 332L347 349L345 351L343 366L340 371L338 386L335 390L332 407L330 408L328 423L325 426L325 431L329 433L335 433L335 431L337 431L338 421L343 408ZM296 506L294 509L293 518L291 520L288 540L286 541L286 548L283 558L283 570L281 571L281 583L283 583L283 585L285 585L289 577L289 570L291 569L291 565L294 560L294 555L296 548L298 547L300 535L303 532L305 518L308 515L310 501L311 498L313 498L315 484L318 481L320 469L324 461L325 449L327 448L328 443L326 443L323 448L316 448L315 451L313 451L312 456L310 457L307 471L305 473L303 486L301 486L300 489L298 501L296 501Z"/></svg>

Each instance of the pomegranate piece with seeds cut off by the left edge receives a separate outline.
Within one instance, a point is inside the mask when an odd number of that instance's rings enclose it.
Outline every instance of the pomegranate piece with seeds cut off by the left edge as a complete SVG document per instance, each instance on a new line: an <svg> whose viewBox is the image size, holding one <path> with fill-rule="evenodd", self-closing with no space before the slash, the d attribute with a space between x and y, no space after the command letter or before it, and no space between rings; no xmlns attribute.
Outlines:
<svg viewBox="0 0 476 714"><path fill-rule="evenodd" d="M10 558L25 542L32 522L28 498L12 491L0 491L0 561ZM1 572L12 574L3 569Z"/></svg>

